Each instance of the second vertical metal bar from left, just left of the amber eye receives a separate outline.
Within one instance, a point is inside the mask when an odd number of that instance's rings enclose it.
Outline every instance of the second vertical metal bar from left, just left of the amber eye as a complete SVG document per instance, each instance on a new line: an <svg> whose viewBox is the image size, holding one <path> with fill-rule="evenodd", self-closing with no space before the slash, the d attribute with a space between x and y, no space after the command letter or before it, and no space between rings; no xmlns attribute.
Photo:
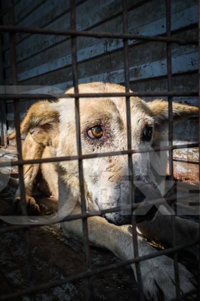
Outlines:
<svg viewBox="0 0 200 301"><path fill-rule="evenodd" d="M70 0L70 25L71 29L75 30L75 1ZM76 51L76 37L71 37L71 55L72 55L72 73L73 73L73 86L74 93L78 93L78 71L77 71L77 51ZM79 114L79 98L75 98L75 125L76 125L76 147L78 157L81 155L81 136L80 136L80 114ZM80 186L80 201L81 201L81 212L87 211L84 196L84 179L83 179L83 168L82 159L78 159L78 175L79 175L79 186ZM83 230L83 242L84 242L84 253L86 260L86 269L91 269L90 261L90 248L88 239L88 227L87 218L82 218L82 230ZM93 300L93 285L91 277L88 277L88 288L89 288L89 300Z"/></svg>

